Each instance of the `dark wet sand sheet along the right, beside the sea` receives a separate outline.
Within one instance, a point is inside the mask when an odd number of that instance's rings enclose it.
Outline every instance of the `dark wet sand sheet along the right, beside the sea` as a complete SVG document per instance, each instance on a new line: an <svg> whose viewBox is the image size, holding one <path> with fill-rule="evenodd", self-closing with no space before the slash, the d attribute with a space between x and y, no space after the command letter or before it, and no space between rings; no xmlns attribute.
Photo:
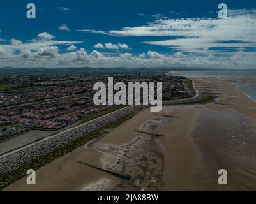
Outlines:
<svg viewBox="0 0 256 204"><path fill-rule="evenodd" d="M243 80L243 79L242 79ZM202 154L193 190L256 191L256 103L236 89L237 79L199 78L225 95L202 108L192 138ZM228 173L228 185L217 182L218 170Z"/></svg>

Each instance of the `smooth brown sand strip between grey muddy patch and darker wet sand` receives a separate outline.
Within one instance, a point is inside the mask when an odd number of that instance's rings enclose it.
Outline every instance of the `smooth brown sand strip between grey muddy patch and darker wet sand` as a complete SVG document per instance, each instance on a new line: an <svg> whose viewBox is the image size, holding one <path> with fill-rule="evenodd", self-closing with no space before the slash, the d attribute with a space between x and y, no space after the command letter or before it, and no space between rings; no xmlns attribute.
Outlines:
<svg viewBox="0 0 256 204"><path fill-rule="evenodd" d="M163 127L165 137L159 138L164 155L164 191L186 191L192 185L192 176L197 171L200 152L190 134L199 112L187 106L165 108L180 118L170 119Z"/></svg>

